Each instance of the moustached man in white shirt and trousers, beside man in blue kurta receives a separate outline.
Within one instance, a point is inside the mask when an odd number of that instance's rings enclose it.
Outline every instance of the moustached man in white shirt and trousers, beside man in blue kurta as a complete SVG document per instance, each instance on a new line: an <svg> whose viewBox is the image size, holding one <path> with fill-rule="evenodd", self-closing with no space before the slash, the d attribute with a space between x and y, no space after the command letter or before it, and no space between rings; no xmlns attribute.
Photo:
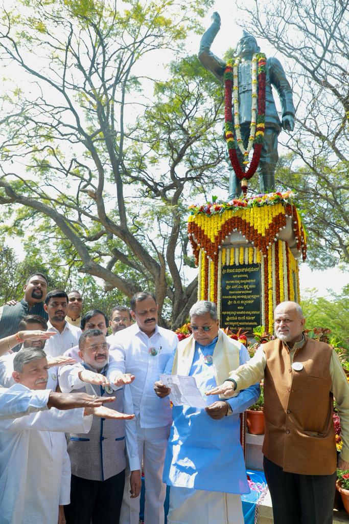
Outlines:
<svg viewBox="0 0 349 524"><path fill-rule="evenodd" d="M149 524L164 522L166 486L162 482L162 472L172 423L170 401L168 398L159 399L153 388L178 342L175 333L157 325L157 309L153 293L145 291L135 294L131 299L131 315L136 323L114 336L116 358L119 359L122 352L124 372L136 376L130 390L137 418L140 461L143 459L144 521ZM114 351L110 350L110 355L113 356ZM107 377L114 381L112 373L107 373ZM126 477L125 486L128 483ZM130 499L125 487L120 524L138 524L139 510L139 499Z"/></svg>

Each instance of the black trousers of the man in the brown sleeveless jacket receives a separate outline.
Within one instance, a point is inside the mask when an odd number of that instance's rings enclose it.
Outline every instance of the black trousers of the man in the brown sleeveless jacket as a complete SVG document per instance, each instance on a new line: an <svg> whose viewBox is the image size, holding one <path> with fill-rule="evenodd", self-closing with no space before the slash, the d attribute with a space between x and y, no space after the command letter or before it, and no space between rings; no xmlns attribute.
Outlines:
<svg viewBox="0 0 349 524"><path fill-rule="evenodd" d="M332 524L336 473L297 475L263 459L274 524Z"/></svg>

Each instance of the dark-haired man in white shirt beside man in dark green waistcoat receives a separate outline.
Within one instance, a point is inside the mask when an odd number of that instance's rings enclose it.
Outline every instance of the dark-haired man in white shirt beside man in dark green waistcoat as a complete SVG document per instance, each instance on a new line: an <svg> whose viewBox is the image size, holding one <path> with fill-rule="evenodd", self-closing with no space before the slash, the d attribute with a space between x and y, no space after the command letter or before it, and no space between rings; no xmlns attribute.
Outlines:
<svg viewBox="0 0 349 524"><path fill-rule="evenodd" d="M56 335L48 341L45 351L52 357L63 355L66 350L76 346L81 335L81 329L66 322L68 296L65 291L54 289L45 298L44 309L49 315L47 323L49 331Z"/></svg>

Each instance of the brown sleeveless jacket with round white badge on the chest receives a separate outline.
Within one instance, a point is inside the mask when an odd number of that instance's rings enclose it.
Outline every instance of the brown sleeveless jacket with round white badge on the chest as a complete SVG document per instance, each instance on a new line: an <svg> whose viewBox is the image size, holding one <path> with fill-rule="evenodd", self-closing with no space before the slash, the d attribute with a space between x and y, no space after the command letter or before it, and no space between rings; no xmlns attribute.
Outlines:
<svg viewBox="0 0 349 524"><path fill-rule="evenodd" d="M265 436L263 454L285 472L330 475L336 471L333 395L330 391L332 348L308 339L298 348L291 368L280 340L263 345Z"/></svg>

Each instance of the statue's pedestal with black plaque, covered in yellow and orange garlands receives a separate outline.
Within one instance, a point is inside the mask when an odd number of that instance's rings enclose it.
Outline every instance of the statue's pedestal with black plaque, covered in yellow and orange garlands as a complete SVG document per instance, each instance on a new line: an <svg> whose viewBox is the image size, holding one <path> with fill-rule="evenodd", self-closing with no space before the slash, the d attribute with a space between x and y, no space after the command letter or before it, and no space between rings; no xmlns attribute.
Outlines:
<svg viewBox="0 0 349 524"><path fill-rule="evenodd" d="M216 302L221 328L252 333L264 325L272 333L276 305L299 302L297 259L306 258L306 236L290 196L192 206L188 235L199 266L198 300Z"/></svg>

